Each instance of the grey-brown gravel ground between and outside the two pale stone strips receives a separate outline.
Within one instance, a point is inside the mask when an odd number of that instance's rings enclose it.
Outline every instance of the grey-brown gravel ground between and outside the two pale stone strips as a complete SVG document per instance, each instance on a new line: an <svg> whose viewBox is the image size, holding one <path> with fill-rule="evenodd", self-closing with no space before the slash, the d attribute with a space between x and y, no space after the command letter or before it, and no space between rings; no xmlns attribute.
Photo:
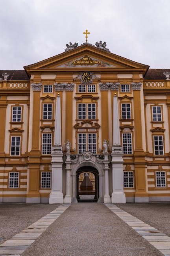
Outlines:
<svg viewBox="0 0 170 256"><path fill-rule="evenodd" d="M170 202L116 204L170 236ZM0 243L56 209L58 204L0 204ZM3 238L2 238L3 237ZM72 204L22 256L161 256L104 204Z"/></svg>

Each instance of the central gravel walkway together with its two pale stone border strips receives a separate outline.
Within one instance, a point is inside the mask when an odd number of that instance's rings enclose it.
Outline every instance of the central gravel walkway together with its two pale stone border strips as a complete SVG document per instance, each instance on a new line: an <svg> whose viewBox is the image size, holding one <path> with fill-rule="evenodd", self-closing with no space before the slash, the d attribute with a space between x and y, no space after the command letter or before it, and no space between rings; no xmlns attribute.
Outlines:
<svg viewBox="0 0 170 256"><path fill-rule="evenodd" d="M63 204L1 244L0 255L170 256L170 237L113 204L106 206Z"/></svg>

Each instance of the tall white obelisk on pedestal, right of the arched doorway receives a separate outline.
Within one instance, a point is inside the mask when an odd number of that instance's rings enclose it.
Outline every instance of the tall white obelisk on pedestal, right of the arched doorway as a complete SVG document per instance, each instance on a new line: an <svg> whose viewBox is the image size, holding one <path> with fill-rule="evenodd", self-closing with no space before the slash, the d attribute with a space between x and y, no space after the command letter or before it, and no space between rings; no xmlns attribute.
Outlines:
<svg viewBox="0 0 170 256"><path fill-rule="evenodd" d="M112 147L112 183L113 193L112 203L126 203L126 197L123 189L123 152L120 145L120 128L118 115L118 100L113 98L113 147Z"/></svg>

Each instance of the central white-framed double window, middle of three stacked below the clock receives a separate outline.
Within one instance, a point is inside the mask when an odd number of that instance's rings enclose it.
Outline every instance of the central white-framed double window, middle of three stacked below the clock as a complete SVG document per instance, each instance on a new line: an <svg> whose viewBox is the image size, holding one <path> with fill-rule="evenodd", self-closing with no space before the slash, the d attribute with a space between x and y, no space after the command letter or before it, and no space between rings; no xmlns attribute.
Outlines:
<svg viewBox="0 0 170 256"><path fill-rule="evenodd" d="M96 119L96 104L78 104L78 119Z"/></svg>

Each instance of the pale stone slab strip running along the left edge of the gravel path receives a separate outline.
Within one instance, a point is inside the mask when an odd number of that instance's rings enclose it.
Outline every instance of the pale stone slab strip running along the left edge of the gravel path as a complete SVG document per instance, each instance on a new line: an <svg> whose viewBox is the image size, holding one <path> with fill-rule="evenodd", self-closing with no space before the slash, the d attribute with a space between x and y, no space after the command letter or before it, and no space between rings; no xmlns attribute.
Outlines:
<svg viewBox="0 0 170 256"><path fill-rule="evenodd" d="M71 204L62 204L20 233L0 245L0 255L19 256L46 230Z"/></svg>

